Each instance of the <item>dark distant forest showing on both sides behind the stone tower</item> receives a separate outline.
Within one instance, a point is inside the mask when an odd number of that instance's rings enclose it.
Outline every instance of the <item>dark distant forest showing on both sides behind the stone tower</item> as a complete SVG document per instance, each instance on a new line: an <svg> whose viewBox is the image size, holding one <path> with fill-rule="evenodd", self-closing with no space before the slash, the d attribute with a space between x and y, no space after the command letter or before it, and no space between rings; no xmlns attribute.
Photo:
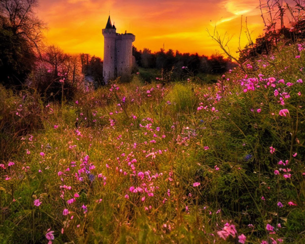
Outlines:
<svg viewBox="0 0 305 244"><path fill-rule="evenodd" d="M188 71L193 75L198 73L204 74L223 74L229 69L237 66L230 59L224 58L219 54L214 54L210 57L199 56L198 53L180 53L178 50L174 52L172 49L165 51L160 49L158 52L152 52L148 48L139 50L133 46L132 55L135 57L136 67L133 72L137 72L138 68L163 69L165 72L173 70L176 77L182 77L185 73L182 72L182 67L187 67ZM103 84L102 60L96 56L82 53L80 55L82 64L82 73L87 79L90 77L97 84Z"/></svg>

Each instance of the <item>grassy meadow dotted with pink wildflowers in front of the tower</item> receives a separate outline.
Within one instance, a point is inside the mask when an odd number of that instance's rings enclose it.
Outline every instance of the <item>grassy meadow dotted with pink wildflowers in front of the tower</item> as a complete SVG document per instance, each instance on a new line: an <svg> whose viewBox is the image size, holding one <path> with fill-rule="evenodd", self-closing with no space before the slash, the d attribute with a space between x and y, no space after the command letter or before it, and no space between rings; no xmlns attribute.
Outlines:
<svg viewBox="0 0 305 244"><path fill-rule="evenodd" d="M39 98L0 88L8 152L0 162L0 243L47 243L49 228L53 243L238 243L241 234L246 243L303 243L300 54L282 48L269 66L264 57L255 69L237 68L212 85L194 77L166 86L134 77L62 106L41 108ZM276 87L261 80L244 92L260 74L275 77ZM289 115L280 116L281 109ZM226 222L238 233L223 240L217 231Z"/></svg>

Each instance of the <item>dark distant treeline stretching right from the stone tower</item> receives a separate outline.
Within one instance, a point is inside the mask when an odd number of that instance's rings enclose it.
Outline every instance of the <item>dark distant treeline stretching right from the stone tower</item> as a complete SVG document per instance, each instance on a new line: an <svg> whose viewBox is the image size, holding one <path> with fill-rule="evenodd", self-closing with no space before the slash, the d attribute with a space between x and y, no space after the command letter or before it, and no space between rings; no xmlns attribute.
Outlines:
<svg viewBox="0 0 305 244"><path fill-rule="evenodd" d="M223 74L236 66L230 59L219 54L207 57L199 56L198 53L180 53L178 50L174 52L172 49L165 51L162 48L158 52L152 52L148 48L138 51L136 47L132 48L132 53L139 67L171 70L172 67L181 69L185 66L195 75L199 72Z"/></svg>

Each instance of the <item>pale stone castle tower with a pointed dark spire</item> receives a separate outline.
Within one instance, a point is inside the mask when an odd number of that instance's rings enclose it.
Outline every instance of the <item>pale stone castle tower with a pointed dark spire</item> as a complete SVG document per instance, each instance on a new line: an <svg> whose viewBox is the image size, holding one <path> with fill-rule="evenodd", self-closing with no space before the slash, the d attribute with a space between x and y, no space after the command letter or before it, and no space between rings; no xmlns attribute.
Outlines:
<svg viewBox="0 0 305 244"><path fill-rule="evenodd" d="M126 31L125 34L117 33L116 27L111 24L110 16L102 33L104 36L103 76L107 84L109 80L131 74L132 42L135 41L135 35Z"/></svg>

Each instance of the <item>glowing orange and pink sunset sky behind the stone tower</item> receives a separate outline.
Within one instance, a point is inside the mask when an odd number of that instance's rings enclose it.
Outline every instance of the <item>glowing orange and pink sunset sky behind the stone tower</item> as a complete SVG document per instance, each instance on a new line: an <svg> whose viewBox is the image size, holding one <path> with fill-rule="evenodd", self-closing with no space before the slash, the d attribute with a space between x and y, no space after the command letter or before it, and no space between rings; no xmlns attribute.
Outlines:
<svg viewBox="0 0 305 244"><path fill-rule="evenodd" d="M253 0L40 0L39 18L48 23L45 33L49 45L65 52L89 53L103 59L105 28L109 11L117 32L135 34L138 50L153 52L163 48L199 55L222 53L206 28L232 37L231 53L238 48L241 15L248 17L248 28L255 38L263 31L258 1ZM245 25L245 22L243 23ZM242 30L241 46L246 44Z"/></svg>

